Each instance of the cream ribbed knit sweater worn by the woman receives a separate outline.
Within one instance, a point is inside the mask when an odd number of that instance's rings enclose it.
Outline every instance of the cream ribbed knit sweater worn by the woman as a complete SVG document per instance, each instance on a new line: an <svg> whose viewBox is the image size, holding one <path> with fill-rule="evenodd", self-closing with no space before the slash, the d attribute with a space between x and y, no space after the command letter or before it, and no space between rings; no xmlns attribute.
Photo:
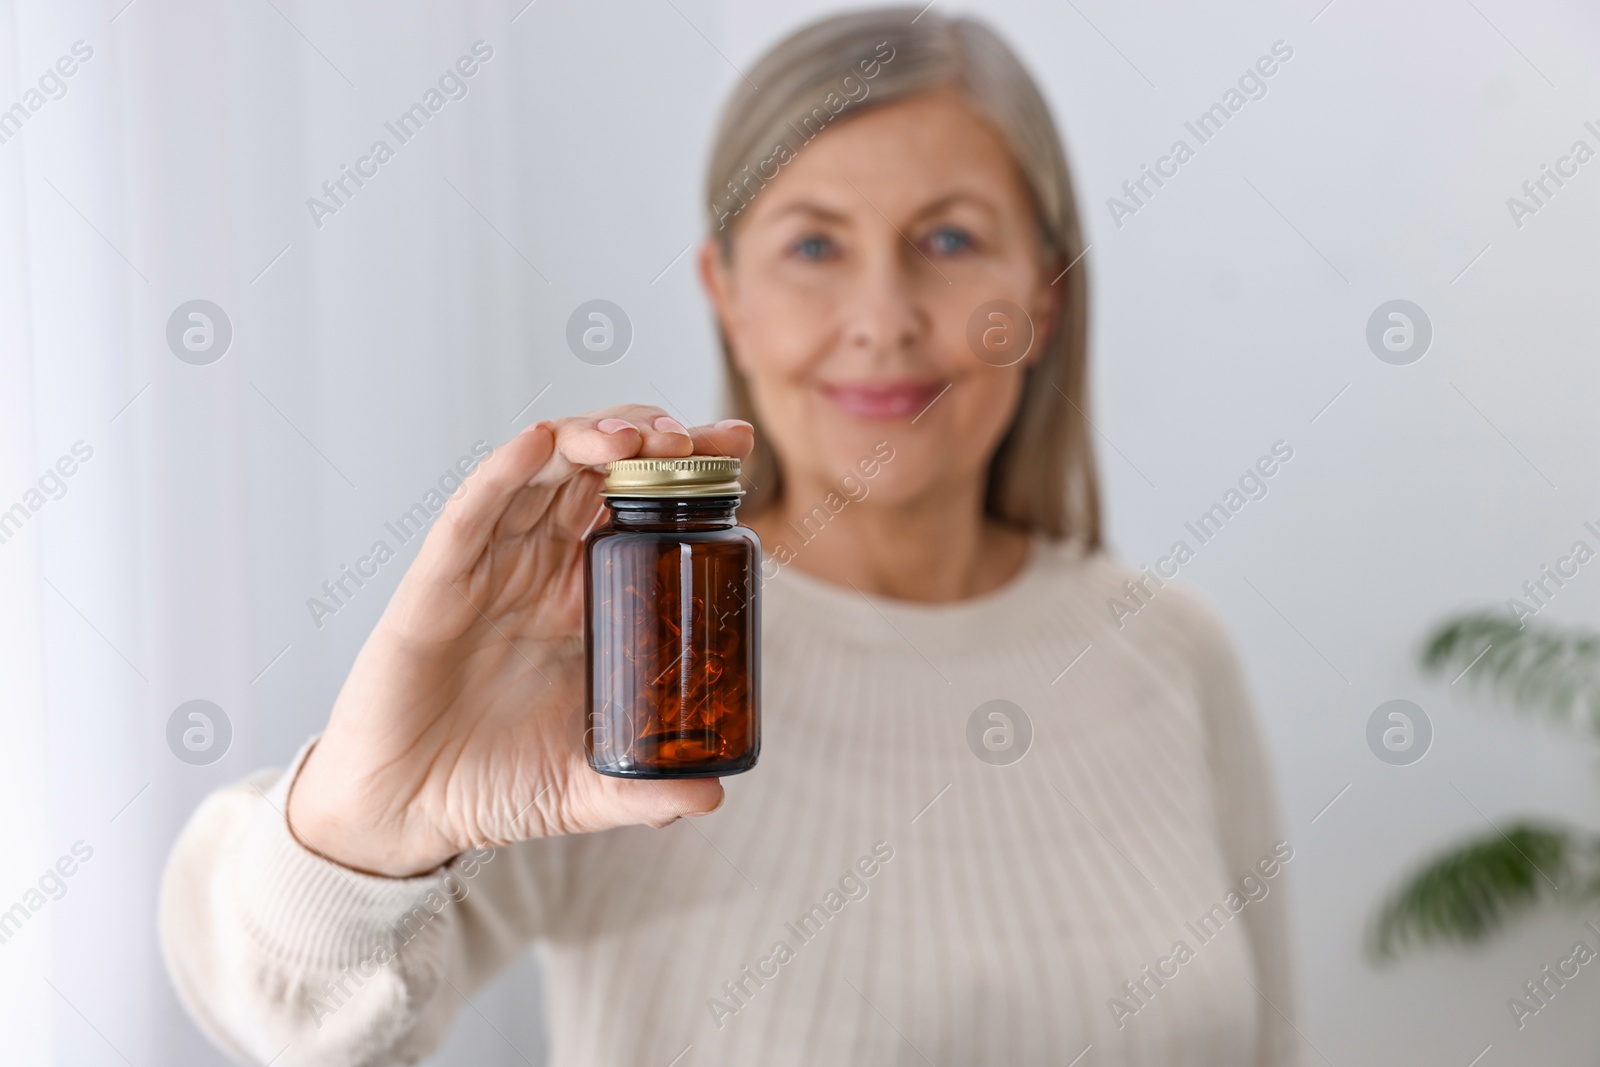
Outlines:
<svg viewBox="0 0 1600 1067"><path fill-rule="evenodd" d="M1130 579L1051 542L955 605L781 568L762 760L664 830L371 878L288 833L302 750L174 846L174 982L248 1062L414 1062L530 945L562 1067L1296 1062L1293 848L1237 662L1171 584L1118 624ZM1021 715L973 728L990 701Z"/></svg>

